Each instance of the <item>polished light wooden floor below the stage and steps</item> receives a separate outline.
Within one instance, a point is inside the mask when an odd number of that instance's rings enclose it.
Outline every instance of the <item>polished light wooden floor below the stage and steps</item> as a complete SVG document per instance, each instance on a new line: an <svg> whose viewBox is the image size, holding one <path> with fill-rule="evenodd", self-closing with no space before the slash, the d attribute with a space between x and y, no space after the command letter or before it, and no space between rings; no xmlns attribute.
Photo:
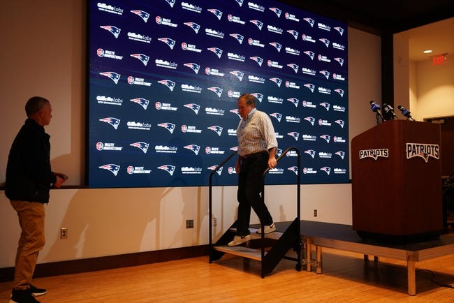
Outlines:
<svg viewBox="0 0 454 303"><path fill-rule="evenodd" d="M451 232L453 235L454 233ZM323 249L323 274L282 260L261 279L260 263L224 256L34 279L40 302L454 302L454 255L416 263L416 296L407 295L403 261L365 261L359 253ZM11 282L0 283L8 302Z"/></svg>

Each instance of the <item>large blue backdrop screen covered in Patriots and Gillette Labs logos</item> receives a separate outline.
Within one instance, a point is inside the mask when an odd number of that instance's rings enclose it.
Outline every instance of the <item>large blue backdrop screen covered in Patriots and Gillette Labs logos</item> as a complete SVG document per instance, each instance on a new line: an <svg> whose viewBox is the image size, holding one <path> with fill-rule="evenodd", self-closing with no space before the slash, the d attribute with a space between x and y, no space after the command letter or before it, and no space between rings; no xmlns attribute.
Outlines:
<svg viewBox="0 0 454 303"><path fill-rule="evenodd" d="M89 1L88 183L206 186L248 92L290 151L266 184L349 181L346 24L278 1ZM235 185L236 156L214 173Z"/></svg>

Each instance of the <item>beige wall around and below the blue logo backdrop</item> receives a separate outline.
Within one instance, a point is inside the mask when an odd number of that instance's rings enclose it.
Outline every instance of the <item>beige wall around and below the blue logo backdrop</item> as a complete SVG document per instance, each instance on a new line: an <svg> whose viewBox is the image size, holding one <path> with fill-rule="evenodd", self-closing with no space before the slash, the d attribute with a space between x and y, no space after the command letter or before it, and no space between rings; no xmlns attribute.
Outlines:
<svg viewBox="0 0 454 303"><path fill-rule="evenodd" d="M85 0L17 0L0 10L0 183L10 143L22 126L24 102L50 99L54 110L52 168L66 172L68 184L85 175ZM369 101L381 101L380 38L349 28L349 136L375 125ZM214 189L219 237L235 219L235 186ZM295 186L268 186L265 199L276 221L296 216ZM303 185L301 218L351 224L351 184ZM313 217L313 210L318 216ZM194 228L186 229L186 219ZM46 206L46 246L38 263L208 243L208 189L61 189ZM256 221L254 216L253 222ZM68 228L68 239L59 229ZM0 191L0 268L14 265L19 237L17 216Z"/></svg>

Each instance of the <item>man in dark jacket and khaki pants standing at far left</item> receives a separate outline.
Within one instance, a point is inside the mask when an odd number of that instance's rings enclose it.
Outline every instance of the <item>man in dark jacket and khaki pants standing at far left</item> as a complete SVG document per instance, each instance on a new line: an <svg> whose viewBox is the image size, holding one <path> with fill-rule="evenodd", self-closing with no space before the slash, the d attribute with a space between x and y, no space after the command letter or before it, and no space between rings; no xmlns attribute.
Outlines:
<svg viewBox="0 0 454 303"><path fill-rule="evenodd" d="M25 105L27 120L11 145L6 167L6 197L17 212L22 230L15 258L13 292L10 302L38 302L34 296L47 290L36 288L31 279L38 253L43 249L44 205L49 202L50 186L60 188L67 177L50 168L50 124L52 107L42 97L31 97Z"/></svg>

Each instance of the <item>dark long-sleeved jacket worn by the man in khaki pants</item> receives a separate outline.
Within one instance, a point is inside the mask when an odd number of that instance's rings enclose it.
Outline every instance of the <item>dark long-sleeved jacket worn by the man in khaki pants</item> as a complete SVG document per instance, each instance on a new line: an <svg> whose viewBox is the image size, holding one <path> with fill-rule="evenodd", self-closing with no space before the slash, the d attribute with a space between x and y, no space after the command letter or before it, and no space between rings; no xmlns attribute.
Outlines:
<svg viewBox="0 0 454 303"><path fill-rule="evenodd" d="M25 120L11 145L6 166L6 197L49 202L50 185L57 181L50 168L50 135L32 119Z"/></svg>

